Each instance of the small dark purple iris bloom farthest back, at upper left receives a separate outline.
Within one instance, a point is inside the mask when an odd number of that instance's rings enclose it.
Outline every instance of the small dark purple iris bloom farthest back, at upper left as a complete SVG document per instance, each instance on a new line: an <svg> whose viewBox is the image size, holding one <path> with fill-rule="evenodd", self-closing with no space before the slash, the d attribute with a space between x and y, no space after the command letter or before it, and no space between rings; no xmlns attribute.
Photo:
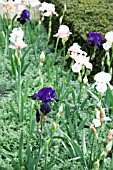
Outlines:
<svg viewBox="0 0 113 170"><path fill-rule="evenodd" d="M27 9L24 9L20 15L20 18L17 18L17 21L24 24L26 20L30 20L30 13Z"/></svg>

